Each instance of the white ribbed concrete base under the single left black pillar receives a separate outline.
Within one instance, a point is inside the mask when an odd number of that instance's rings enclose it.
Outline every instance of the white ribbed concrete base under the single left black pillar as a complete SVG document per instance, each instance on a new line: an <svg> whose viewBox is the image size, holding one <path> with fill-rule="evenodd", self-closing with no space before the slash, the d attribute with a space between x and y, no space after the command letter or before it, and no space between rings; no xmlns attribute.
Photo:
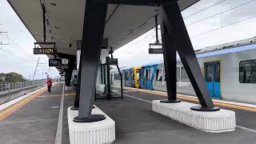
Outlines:
<svg viewBox="0 0 256 144"><path fill-rule="evenodd" d="M78 116L78 110L68 108L68 124L70 132L70 144L110 144L115 140L115 122L97 106L94 106L92 114L103 114L105 120L99 122L73 122Z"/></svg>

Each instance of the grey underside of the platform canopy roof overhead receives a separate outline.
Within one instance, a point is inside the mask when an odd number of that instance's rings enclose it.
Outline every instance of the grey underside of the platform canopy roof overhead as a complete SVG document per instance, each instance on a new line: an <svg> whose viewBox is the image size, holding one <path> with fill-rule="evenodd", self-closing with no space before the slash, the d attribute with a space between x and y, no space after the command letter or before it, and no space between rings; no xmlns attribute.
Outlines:
<svg viewBox="0 0 256 144"><path fill-rule="evenodd" d="M40 0L7 0L37 42L43 42L43 14ZM199 0L179 0L181 10ZM45 0L46 41L56 42L58 53L76 54L82 38L86 0ZM114 50L154 28L158 6L108 6L104 38ZM71 45L70 45L71 44Z"/></svg>

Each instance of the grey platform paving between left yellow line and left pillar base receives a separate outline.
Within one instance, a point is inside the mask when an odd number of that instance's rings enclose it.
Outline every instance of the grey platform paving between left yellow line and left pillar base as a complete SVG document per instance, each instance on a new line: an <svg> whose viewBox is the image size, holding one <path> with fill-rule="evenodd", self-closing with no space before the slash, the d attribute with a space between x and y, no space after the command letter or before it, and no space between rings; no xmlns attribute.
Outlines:
<svg viewBox="0 0 256 144"><path fill-rule="evenodd" d="M52 87L51 93L43 92L14 114L2 120L0 122L0 144L53 144L58 124L58 106L61 102L62 86L63 83L58 83ZM65 98L69 99L69 97ZM68 107L68 102L64 110ZM64 137L62 138L69 143L69 137L66 136L68 129L65 118L66 115L63 114L62 134Z"/></svg>

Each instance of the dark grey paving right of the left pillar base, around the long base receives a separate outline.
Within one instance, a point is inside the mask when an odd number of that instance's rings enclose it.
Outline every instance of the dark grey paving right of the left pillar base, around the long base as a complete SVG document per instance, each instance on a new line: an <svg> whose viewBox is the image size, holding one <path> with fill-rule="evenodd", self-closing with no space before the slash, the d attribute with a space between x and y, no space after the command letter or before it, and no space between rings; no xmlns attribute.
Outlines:
<svg viewBox="0 0 256 144"><path fill-rule="evenodd" d="M136 91L126 92L126 94L145 101L129 98L125 95L124 101L95 102L116 122L115 143L256 143L256 133L249 130L237 128L233 132L211 134L190 128L151 111L150 101L163 99L163 97L142 94Z"/></svg>

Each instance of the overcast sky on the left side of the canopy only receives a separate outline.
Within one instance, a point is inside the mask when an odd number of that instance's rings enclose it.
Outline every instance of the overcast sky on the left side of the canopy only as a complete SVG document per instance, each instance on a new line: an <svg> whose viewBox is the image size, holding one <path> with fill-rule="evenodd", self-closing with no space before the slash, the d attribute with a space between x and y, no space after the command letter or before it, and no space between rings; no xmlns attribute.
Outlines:
<svg viewBox="0 0 256 144"><path fill-rule="evenodd" d="M14 71L32 79L39 57L33 54L35 40L6 0L0 0L0 31L8 32L0 34L0 42L9 43L8 46L0 45L2 49L0 50L0 73ZM6 40L6 35L14 42ZM25 52L22 52L21 49ZM35 78L42 78L42 76L46 78L46 73L49 70L46 55L40 55L39 63L44 64L38 66ZM57 76L58 70L52 67L50 77Z"/></svg>

